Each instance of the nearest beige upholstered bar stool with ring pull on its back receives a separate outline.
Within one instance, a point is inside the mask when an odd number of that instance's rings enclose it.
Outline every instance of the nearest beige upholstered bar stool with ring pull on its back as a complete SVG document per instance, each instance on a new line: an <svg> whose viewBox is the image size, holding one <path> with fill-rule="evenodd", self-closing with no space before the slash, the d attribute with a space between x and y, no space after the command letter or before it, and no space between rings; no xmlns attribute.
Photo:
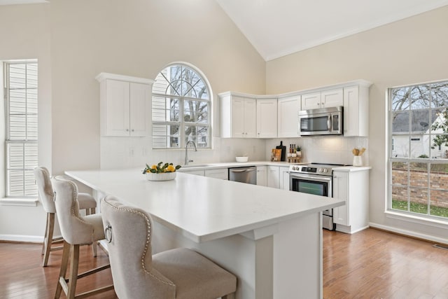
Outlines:
<svg viewBox="0 0 448 299"><path fill-rule="evenodd" d="M235 298L237 277L196 251L152 255L151 216L116 197L101 202L113 284L118 298Z"/></svg>

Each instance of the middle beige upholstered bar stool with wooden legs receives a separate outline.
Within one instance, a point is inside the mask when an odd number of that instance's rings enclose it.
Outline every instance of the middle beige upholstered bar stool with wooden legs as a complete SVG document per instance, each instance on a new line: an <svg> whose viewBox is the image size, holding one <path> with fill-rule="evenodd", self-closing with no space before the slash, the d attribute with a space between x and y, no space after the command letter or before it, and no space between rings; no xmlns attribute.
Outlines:
<svg viewBox="0 0 448 299"><path fill-rule="evenodd" d="M61 269L55 298L59 298L62 290L67 298L84 298L113 289L113 285L97 288L79 295L76 293L76 282L79 278L107 269L110 265L94 268L78 274L79 246L92 244L104 239L103 221L101 214L80 216L78 209L78 187L73 181L67 181L57 176L52 179L55 188L55 206L64 239ZM67 267L70 262L69 277L66 279Z"/></svg>

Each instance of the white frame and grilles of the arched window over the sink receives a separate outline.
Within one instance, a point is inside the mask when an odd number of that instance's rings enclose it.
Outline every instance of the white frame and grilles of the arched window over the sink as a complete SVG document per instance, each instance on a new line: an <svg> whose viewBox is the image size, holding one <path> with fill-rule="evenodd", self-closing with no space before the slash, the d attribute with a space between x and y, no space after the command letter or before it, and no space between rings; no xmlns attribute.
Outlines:
<svg viewBox="0 0 448 299"><path fill-rule="evenodd" d="M157 78L160 74L162 74L163 71L165 71L166 69L169 69L170 67L183 67L186 69L190 69L190 71L195 72L195 75L197 77L200 78L200 80L202 81L202 83L204 84L204 87L207 90L207 94L209 95L209 97L207 99L202 99L199 97L188 97L185 95L168 95L167 93L163 94L160 92L155 92L155 88L157 88ZM173 81L170 79L169 83L172 83ZM169 98L172 99L177 99L178 102L178 106L179 106L179 120L176 121L172 121L172 120L165 120L165 121L160 121L160 120L154 120L154 117L151 120L151 137L153 139L152 141L152 148L153 150L179 150L179 149L183 149L186 146L187 141L189 141L190 139L186 140L186 127L188 126L193 126L193 127L206 127L207 128L207 139L208 139L208 143L206 142L207 146L200 146L200 144L202 143L203 140L203 135L200 134L196 134L195 135L195 144L197 145L198 149L212 149L213 148L213 134L212 134L212 124L213 124L213 94L211 91L211 87L209 82L207 81L207 77L204 76L204 74L202 73L202 71L200 71L200 69L197 69L197 67L194 67L192 64L188 64L186 62L173 62L171 64L168 64L166 67L164 67L156 76L155 79L155 83L153 84L153 90L152 90L152 95L151 95L151 115L153 115L154 113L154 103L155 103L155 98L164 98L165 101ZM159 99L160 101L160 99ZM186 120L183 119L183 116L185 116L185 102L186 101L195 101L195 102L204 102L207 103L207 123L193 123L193 122L188 122ZM166 102L165 102L166 103ZM159 109L160 110L160 109ZM167 110L165 111L165 113L170 112L171 110ZM169 135L169 134L165 134L165 135L157 135L154 134L155 133L155 126L163 126L163 125L179 125L179 135ZM155 146L155 138L157 137L162 137L165 136L167 137L167 144L169 143L169 140L174 138L179 138L179 146ZM171 136L171 137L170 137Z"/></svg>

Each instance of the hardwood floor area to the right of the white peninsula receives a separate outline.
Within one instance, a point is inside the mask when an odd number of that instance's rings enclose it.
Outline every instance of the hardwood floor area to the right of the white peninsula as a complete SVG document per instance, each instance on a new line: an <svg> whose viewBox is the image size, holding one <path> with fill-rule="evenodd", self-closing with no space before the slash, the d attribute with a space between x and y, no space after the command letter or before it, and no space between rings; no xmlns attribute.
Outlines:
<svg viewBox="0 0 448 299"><path fill-rule="evenodd" d="M324 231L323 298L448 298L448 250L367 229Z"/></svg>

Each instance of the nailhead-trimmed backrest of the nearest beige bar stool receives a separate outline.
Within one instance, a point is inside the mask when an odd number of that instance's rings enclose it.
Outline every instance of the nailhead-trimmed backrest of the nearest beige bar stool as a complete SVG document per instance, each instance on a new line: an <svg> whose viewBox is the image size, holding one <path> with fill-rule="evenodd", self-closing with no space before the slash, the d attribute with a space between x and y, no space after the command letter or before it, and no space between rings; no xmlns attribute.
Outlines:
<svg viewBox="0 0 448 299"><path fill-rule="evenodd" d="M151 216L110 195L101 210L118 298L175 298L176 286L151 265Z"/></svg>

